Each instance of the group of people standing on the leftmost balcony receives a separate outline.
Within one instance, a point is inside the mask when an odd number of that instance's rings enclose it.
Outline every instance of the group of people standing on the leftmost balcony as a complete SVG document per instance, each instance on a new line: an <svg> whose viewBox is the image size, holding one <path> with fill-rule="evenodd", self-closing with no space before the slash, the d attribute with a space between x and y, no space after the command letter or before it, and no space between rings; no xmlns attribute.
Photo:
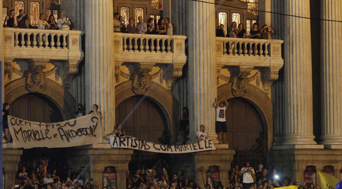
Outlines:
<svg viewBox="0 0 342 189"><path fill-rule="evenodd" d="M45 20L45 14L40 13L38 19L38 29L50 29L50 30L70 30L71 21L65 16L63 12L60 12L57 21L53 14L49 16L47 20ZM19 10L19 15L15 17L14 10L10 10L10 14L6 16L3 27L6 28L28 28L28 22L31 20L31 16L29 14L24 13L24 10Z"/></svg>

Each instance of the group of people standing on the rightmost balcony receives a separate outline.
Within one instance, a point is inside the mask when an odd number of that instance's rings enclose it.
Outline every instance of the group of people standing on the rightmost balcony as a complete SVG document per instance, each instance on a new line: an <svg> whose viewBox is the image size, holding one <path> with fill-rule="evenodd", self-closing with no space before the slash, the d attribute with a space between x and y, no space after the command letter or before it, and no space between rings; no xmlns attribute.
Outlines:
<svg viewBox="0 0 342 189"><path fill-rule="evenodd" d="M249 38L251 39L271 39L270 35L274 33L273 29L266 24L262 26L261 31L258 28L258 24L254 23L252 25L252 29L249 34ZM228 32L224 30L224 25L220 24L218 29L216 30L216 37L224 37L224 38L246 38L246 30L243 24L239 24L237 26L236 22L232 22L231 26L228 28Z"/></svg>

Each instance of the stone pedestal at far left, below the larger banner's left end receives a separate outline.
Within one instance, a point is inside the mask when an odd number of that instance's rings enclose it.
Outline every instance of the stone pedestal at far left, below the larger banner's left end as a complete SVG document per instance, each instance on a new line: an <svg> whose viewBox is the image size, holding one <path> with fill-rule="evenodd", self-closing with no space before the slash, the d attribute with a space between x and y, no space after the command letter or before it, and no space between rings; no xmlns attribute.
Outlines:
<svg viewBox="0 0 342 189"><path fill-rule="evenodd" d="M15 184L15 174L18 171L18 163L23 150L12 148L12 144L2 144L2 163L5 169L5 189L11 189ZM2 178L1 178L2 179ZM1 186L2 187L2 186Z"/></svg>

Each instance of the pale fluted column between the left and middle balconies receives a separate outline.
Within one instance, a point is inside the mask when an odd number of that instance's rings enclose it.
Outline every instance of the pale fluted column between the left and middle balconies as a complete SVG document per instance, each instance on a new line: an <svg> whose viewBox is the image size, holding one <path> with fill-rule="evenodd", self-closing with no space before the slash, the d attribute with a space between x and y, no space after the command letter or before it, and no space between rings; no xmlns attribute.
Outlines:
<svg viewBox="0 0 342 189"><path fill-rule="evenodd" d="M113 0L86 0L84 15L87 112L92 104L100 106L105 135L115 125Z"/></svg>

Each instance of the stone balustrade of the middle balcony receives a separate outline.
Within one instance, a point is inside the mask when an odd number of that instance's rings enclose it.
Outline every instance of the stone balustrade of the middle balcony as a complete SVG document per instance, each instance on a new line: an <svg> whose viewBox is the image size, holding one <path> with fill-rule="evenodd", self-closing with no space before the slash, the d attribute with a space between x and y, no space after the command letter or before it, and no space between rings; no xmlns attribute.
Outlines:
<svg viewBox="0 0 342 189"><path fill-rule="evenodd" d="M185 63L182 35L114 33L116 62Z"/></svg>

